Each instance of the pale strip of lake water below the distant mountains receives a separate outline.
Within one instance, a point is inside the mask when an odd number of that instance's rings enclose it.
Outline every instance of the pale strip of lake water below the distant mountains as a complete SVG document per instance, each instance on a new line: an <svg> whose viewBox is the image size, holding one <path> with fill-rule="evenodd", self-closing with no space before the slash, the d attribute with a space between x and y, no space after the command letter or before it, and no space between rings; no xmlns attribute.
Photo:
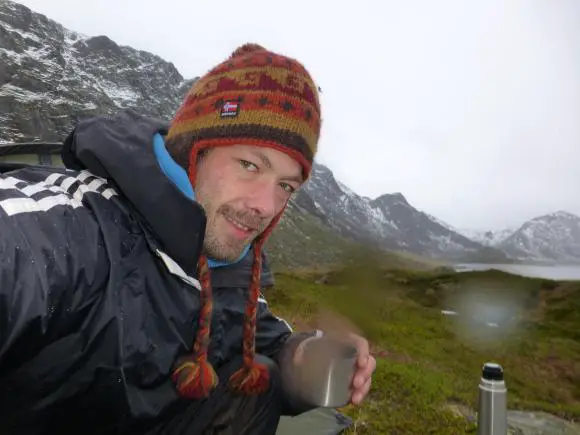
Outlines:
<svg viewBox="0 0 580 435"><path fill-rule="evenodd" d="M580 265L537 265L537 264L480 264L461 263L454 265L455 270L498 269L515 275L553 280L580 280Z"/></svg>

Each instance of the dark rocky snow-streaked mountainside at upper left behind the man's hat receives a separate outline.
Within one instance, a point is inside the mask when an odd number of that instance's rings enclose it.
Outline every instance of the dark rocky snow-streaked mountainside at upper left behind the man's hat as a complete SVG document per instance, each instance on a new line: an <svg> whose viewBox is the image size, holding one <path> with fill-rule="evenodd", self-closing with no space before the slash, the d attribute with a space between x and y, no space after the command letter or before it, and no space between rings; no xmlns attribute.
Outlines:
<svg viewBox="0 0 580 435"><path fill-rule="evenodd" d="M60 140L79 117L120 108L167 117L190 84L159 56L0 0L0 143Z"/></svg>

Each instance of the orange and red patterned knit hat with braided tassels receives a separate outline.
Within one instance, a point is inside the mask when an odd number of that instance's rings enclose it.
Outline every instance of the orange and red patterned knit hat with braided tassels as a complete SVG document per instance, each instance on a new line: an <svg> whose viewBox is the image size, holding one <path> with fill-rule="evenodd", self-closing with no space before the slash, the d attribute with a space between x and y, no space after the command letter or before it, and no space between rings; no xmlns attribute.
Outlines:
<svg viewBox="0 0 580 435"><path fill-rule="evenodd" d="M300 163L304 180L310 176L320 135L318 88L298 61L257 44L245 44L223 63L196 81L178 109L167 140L185 138L189 151L189 179L195 187L200 150L227 145L274 148ZM284 207L285 209L285 207ZM254 240L253 266L243 325L243 366L229 379L235 391L257 394L269 386L267 367L255 356L256 311L260 294L262 247L284 209ZM201 310L193 355L177 361L173 380L181 396L207 397L217 385L208 361L212 294L208 260L198 264Z"/></svg>

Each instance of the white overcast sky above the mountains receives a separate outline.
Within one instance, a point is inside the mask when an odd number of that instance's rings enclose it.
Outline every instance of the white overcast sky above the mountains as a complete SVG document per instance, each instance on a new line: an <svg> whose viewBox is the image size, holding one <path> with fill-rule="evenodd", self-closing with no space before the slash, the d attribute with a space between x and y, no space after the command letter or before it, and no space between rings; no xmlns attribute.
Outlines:
<svg viewBox="0 0 580 435"><path fill-rule="evenodd" d="M297 58L323 90L318 161L361 195L459 228L580 215L577 0L18 2L185 77L248 41Z"/></svg>

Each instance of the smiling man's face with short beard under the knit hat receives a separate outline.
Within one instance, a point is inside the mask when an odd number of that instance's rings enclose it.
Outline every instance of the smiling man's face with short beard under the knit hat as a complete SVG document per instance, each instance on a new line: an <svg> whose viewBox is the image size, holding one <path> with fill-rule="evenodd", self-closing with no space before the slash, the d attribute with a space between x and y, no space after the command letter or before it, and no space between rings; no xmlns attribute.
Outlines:
<svg viewBox="0 0 580 435"><path fill-rule="evenodd" d="M272 148L224 146L206 152L196 177L196 198L207 215L205 252L233 261L300 187L302 167Z"/></svg>

